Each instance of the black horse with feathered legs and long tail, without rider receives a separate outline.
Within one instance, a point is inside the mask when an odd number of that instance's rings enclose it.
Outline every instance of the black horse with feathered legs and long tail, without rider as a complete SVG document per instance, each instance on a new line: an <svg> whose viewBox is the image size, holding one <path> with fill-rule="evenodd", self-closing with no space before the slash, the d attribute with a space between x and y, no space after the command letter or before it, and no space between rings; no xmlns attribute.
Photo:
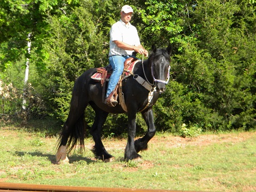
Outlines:
<svg viewBox="0 0 256 192"><path fill-rule="evenodd" d="M154 137L156 129L152 107L156 103L158 95L165 90L165 85L168 82L166 79L169 80L171 46L168 46L166 49L156 49L153 45L152 50L153 53L149 55L147 60L139 61L140 63L135 65L133 70L135 75L126 78L122 82L122 92L128 115L128 139L124 154L125 161L132 159L140 160L141 156L138 152L146 150L148 141ZM126 111L121 105L109 107L102 102L102 86L100 82L95 82L91 78L95 72L96 68L89 69L79 76L75 82L69 115L63 125L59 138L59 148L56 154L58 164L61 161L69 162L67 149L71 151L76 147L77 143L81 147L84 146L84 113L88 104L95 111L94 123L90 130L95 142L92 151L96 158L102 159L105 162L113 160L113 156L107 152L101 141L102 126L109 113L121 114L126 113ZM145 79L153 91L148 91L138 83L135 80L136 77ZM149 92L152 93L151 96L153 97L150 102L148 102ZM144 137L134 142L136 132L135 118L139 111L145 119L148 132Z"/></svg>

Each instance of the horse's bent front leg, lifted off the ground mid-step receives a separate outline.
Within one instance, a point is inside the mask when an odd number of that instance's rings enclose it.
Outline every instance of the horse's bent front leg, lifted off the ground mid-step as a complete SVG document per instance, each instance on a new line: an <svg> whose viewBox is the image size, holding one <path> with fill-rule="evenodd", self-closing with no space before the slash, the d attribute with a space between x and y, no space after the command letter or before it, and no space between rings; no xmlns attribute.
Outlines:
<svg viewBox="0 0 256 192"><path fill-rule="evenodd" d="M140 138L135 141L134 147L137 153L139 153L139 151L142 151L142 150L147 150L148 141L152 139L156 133L156 129L154 125L153 110L149 109L148 111L141 114L148 126L148 132L143 138Z"/></svg>

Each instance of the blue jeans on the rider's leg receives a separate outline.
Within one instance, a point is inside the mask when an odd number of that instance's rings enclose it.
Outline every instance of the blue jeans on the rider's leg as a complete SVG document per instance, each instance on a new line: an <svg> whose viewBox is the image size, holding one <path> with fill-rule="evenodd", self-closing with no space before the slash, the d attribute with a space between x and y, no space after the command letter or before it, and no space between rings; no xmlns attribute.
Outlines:
<svg viewBox="0 0 256 192"><path fill-rule="evenodd" d="M113 55L109 57L109 63L111 67L113 68L113 73L111 74L108 82L108 89L106 93L106 98L109 96L109 94L114 91L116 84L119 81L120 76L123 73L124 70L124 61L129 58L130 56L121 56L121 55Z"/></svg>

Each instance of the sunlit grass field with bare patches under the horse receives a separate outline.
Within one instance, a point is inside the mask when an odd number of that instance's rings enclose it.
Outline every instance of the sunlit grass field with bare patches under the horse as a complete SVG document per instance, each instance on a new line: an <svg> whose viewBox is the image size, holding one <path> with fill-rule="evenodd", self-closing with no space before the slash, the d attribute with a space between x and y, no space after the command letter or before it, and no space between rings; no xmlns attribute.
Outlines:
<svg viewBox="0 0 256 192"><path fill-rule="evenodd" d="M91 138L85 151L55 164L57 138L17 127L0 128L0 182L85 187L256 191L256 132L204 134L180 138L157 134L143 161L124 162L125 139L103 139L115 161L93 158Z"/></svg>

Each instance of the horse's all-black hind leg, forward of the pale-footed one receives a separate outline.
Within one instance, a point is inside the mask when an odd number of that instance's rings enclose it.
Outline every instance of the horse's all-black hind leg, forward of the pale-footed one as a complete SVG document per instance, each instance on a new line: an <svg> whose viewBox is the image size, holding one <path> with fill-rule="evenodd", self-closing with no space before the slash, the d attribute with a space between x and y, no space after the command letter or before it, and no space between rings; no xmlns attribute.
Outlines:
<svg viewBox="0 0 256 192"><path fill-rule="evenodd" d="M111 162L113 161L113 156L107 152L101 141L102 126L104 125L107 119L108 113L106 111L99 109L95 105L92 105L92 108L95 111L95 118L90 131L95 142L92 152L94 153L97 159L101 159L104 162Z"/></svg>

